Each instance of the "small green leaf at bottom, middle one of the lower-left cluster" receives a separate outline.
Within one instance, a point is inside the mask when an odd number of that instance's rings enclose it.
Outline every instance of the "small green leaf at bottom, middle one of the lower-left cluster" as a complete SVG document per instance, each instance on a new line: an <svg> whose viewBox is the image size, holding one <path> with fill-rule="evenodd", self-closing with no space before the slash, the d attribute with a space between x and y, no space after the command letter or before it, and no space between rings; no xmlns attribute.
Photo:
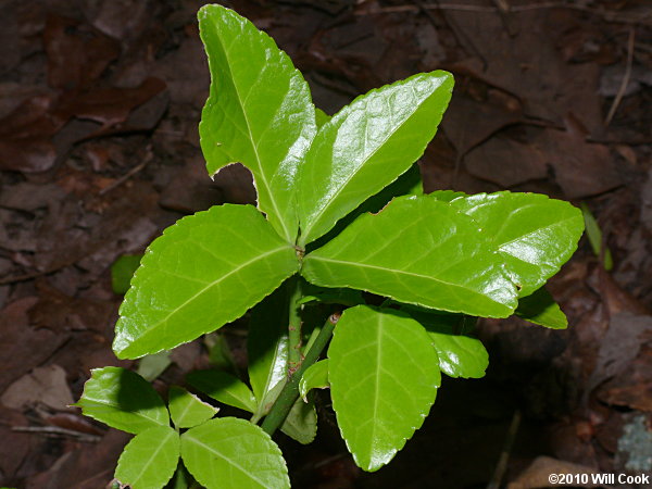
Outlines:
<svg viewBox="0 0 652 489"><path fill-rule="evenodd" d="M162 488L179 461L179 435L170 426L146 429L127 443L115 478L131 489Z"/></svg>

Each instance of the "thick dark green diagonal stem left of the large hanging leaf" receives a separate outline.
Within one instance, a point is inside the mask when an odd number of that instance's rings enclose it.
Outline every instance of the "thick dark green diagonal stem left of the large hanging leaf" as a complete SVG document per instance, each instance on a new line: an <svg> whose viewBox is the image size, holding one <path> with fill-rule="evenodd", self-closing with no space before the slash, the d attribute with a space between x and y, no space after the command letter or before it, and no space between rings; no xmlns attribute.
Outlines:
<svg viewBox="0 0 652 489"><path fill-rule="evenodd" d="M299 366L299 369L292 374L280 391L280 394L278 394L278 398L272 406L269 414L267 414L267 417L265 417L265 421L261 426L269 436L274 435L274 431L276 431L280 425L283 425L283 422L285 422L285 418L288 416L292 405L294 405L294 402L297 402L297 399L299 399L299 380L301 380L301 376L305 369L317 361L322 354L322 351L324 348L326 348L339 316L339 313L335 313L331 314L328 319L326 319L326 323L322 327L322 330L315 339L312 348L305 353L305 358Z"/></svg>

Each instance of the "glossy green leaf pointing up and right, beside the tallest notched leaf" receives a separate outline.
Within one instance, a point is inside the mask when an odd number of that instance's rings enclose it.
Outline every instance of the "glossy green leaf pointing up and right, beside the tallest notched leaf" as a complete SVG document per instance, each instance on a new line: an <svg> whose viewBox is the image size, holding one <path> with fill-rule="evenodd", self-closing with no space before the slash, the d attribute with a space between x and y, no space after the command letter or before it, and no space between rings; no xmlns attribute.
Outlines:
<svg viewBox="0 0 652 489"><path fill-rule="evenodd" d="M452 89L449 73L422 73L356 98L319 128L299 180L299 244L410 168L435 136Z"/></svg>

